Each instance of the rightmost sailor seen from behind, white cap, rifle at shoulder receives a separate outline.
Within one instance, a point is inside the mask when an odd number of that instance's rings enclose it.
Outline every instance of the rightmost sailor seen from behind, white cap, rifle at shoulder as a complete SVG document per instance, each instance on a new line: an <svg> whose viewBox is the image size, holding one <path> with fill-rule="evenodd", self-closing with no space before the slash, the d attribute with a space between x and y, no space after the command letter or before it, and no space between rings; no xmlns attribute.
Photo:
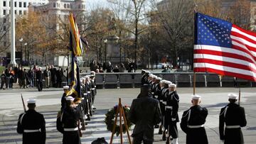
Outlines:
<svg viewBox="0 0 256 144"><path fill-rule="evenodd" d="M220 140L225 144L244 143L241 127L246 126L245 109L238 104L236 94L228 94L230 103L220 110ZM224 131L225 125L225 131Z"/></svg>

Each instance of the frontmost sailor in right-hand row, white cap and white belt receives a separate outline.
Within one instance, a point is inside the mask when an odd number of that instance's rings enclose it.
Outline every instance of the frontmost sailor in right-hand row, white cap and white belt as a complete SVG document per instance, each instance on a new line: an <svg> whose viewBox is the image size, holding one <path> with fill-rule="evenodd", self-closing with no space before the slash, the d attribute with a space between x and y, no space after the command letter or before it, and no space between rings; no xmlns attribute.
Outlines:
<svg viewBox="0 0 256 144"><path fill-rule="evenodd" d="M169 84L169 94L166 96L166 106L165 106L165 117L164 117L164 127L168 130L168 138L166 144L170 143L170 137L172 144L178 144L178 102L179 97L176 91L176 84Z"/></svg>

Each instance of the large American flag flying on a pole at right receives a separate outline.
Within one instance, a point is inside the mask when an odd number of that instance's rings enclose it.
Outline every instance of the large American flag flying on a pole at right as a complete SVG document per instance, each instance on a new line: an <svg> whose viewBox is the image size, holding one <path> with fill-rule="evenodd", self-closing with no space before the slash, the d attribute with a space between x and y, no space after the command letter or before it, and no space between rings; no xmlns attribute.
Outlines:
<svg viewBox="0 0 256 144"><path fill-rule="evenodd" d="M194 72L213 72L256 82L256 33L196 13Z"/></svg>

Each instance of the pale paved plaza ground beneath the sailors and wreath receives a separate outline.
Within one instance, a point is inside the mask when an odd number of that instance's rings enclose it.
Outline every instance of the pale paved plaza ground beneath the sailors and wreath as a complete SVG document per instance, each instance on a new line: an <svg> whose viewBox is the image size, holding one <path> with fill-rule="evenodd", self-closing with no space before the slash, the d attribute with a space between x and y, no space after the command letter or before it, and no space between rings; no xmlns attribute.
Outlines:
<svg viewBox="0 0 256 144"><path fill-rule="evenodd" d="M220 108L225 106L228 101L228 93L235 92L238 94L239 89L235 88L197 88L196 94L200 94L202 98L201 105L208 109L208 117L206 121L206 131L209 143L220 143L218 136L218 114ZM179 116L184 110L191 106L191 94L193 88L178 88L180 96ZM24 99L36 98L36 110L43 113L46 118L46 143L57 144L62 143L62 135L55 128L57 111L60 109L60 98L63 94L62 89L43 89L38 92L36 89L7 89L0 91L0 143L21 143L22 135L16 133L16 124L18 115L23 112L21 102L21 94ZM112 106L117 104L118 98L122 98L122 104L130 105L132 99L139 94L139 89L98 89L95 99L95 111L92 120L88 121L86 131L83 131L81 138L82 143L91 143L100 137L105 137L110 142L111 133L107 131L104 123L105 113ZM245 107L247 126L242 128L245 138L245 144L255 143L256 141L256 89L241 89L241 105ZM186 143L186 135L179 128L179 143ZM161 141L161 135L157 134L155 129L155 143L165 143ZM127 143L127 137L124 138ZM119 138L114 138L114 143L119 143Z"/></svg>

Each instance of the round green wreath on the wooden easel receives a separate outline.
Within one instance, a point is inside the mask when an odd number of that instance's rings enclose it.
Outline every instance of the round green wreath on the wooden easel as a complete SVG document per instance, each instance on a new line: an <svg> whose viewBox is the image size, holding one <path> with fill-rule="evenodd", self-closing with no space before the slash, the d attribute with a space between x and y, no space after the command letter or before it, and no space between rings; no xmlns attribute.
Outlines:
<svg viewBox="0 0 256 144"><path fill-rule="evenodd" d="M107 125L107 130L111 131L111 132L113 131L113 128L114 128L114 118L115 118L116 113L117 113L117 108L118 108L118 106L114 106L114 108L110 109L105 114L106 115L105 123ZM131 127L132 127L132 123L131 123L131 121L129 121L129 118L127 118L128 113L129 113L129 107L128 106L123 106L123 109L124 109L124 115L125 115L125 118L126 118L126 121L127 121L128 130L130 130ZM119 128L119 125L117 125L117 124L115 124L115 125L116 125L116 127L115 127L115 130L114 130L114 134L116 134L118 136L120 134L120 128ZM123 130L123 133L126 133L127 129L126 129L124 123L122 124L122 130Z"/></svg>

